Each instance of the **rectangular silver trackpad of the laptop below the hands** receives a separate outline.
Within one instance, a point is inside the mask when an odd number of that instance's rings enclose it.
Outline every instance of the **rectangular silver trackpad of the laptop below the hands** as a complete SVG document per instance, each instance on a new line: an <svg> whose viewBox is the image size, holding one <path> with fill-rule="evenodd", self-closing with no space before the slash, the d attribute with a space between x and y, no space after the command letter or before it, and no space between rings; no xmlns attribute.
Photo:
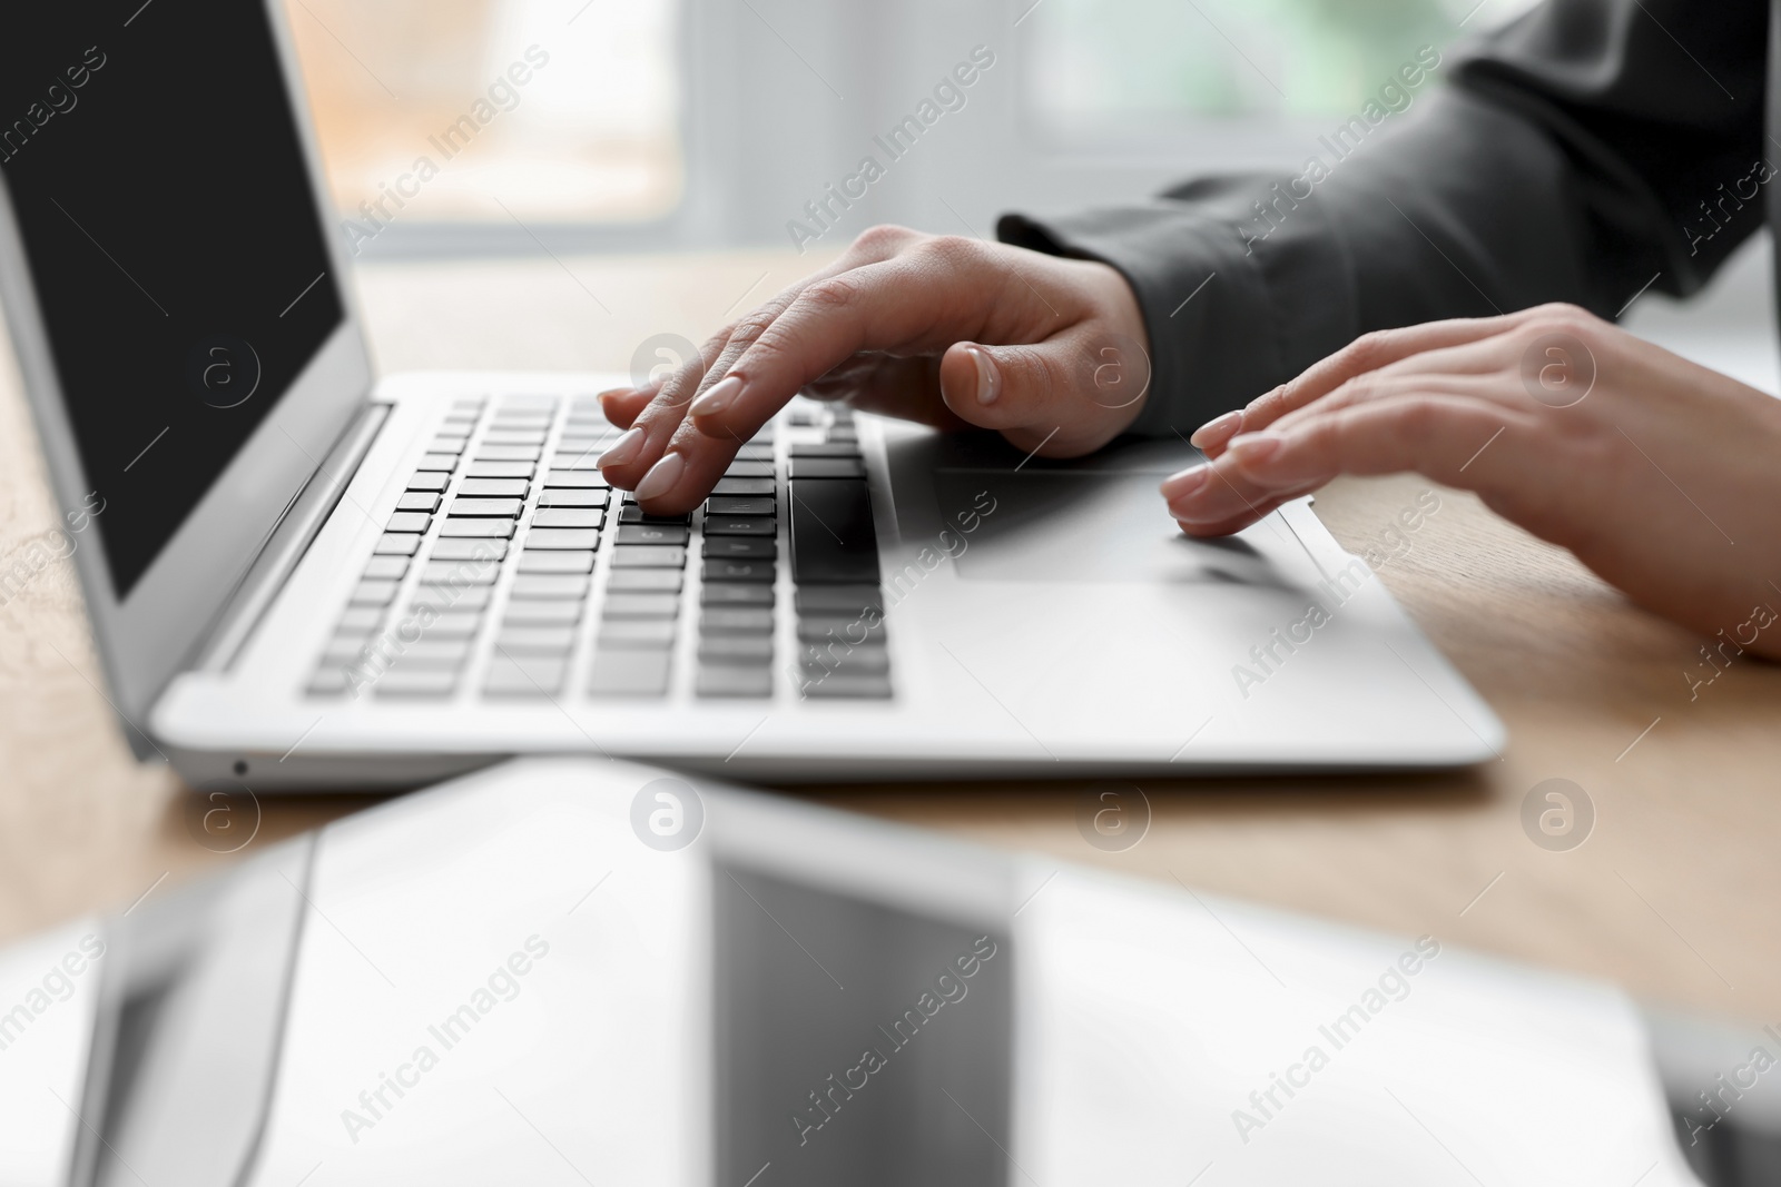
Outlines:
<svg viewBox="0 0 1781 1187"><path fill-rule="evenodd" d="M955 543L964 548L953 557L964 580L1279 584L1250 545L1183 536L1154 472L937 470L931 477L940 507L994 507Z"/></svg>

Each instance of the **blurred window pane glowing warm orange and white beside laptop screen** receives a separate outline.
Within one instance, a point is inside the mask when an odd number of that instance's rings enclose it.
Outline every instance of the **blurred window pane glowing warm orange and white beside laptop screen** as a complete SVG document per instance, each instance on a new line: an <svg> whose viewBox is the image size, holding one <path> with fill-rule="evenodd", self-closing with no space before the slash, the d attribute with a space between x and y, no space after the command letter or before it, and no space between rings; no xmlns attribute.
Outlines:
<svg viewBox="0 0 1781 1187"><path fill-rule="evenodd" d="M360 233L634 224L680 205L679 0L285 7L328 182Z"/></svg>

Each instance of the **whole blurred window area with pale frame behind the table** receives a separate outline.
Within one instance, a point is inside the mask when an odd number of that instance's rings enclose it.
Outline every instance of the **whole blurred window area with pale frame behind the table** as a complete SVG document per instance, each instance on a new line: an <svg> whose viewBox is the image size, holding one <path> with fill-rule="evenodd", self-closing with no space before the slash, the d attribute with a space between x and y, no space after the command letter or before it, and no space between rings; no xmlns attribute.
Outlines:
<svg viewBox="0 0 1781 1187"><path fill-rule="evenodd" d="M887 176L873 222L990 235L1006 208L1118 201L1202 169L1293 166L1421 46L1532 0L285 0L342 217L365 256L791 246ZM447 160L435 139L529 46L531 82ZM994 66L901 160L874 146L974 46ZM1443 71L1432 84L1439 85ZM459 148L452 144L452 148ZM376 226L360 203L440 176ZM415 189L413 183L408 189ZM379 217L379 221L383 221ZM817 228L823 230L823 228Z"/></svg>

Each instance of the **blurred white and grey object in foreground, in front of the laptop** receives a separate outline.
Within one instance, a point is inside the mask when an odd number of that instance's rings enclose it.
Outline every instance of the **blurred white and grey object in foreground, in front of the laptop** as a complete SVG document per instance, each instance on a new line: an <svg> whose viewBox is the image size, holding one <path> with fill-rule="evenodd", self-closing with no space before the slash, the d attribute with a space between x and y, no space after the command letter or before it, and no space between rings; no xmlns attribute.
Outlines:
<svg viewBox="0 0 1781 1187"><path fill-rule="evenodd" d="M1774 1039L1183 877L502 765L0 954L0 1182L1772 1182Z"/></svg>

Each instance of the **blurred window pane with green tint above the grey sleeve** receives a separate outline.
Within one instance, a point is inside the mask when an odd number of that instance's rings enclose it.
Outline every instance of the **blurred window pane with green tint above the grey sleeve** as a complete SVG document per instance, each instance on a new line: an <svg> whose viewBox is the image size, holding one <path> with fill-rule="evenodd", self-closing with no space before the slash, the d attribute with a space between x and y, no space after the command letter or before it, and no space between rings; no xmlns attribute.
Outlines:
<svg viewBox="0 0 1781 1187"><path fill-rule="evenodd" d="M1038 0L1021 20L1024 107L1042 137L1346 116L1421 46L1537 2Z"/></svg>

